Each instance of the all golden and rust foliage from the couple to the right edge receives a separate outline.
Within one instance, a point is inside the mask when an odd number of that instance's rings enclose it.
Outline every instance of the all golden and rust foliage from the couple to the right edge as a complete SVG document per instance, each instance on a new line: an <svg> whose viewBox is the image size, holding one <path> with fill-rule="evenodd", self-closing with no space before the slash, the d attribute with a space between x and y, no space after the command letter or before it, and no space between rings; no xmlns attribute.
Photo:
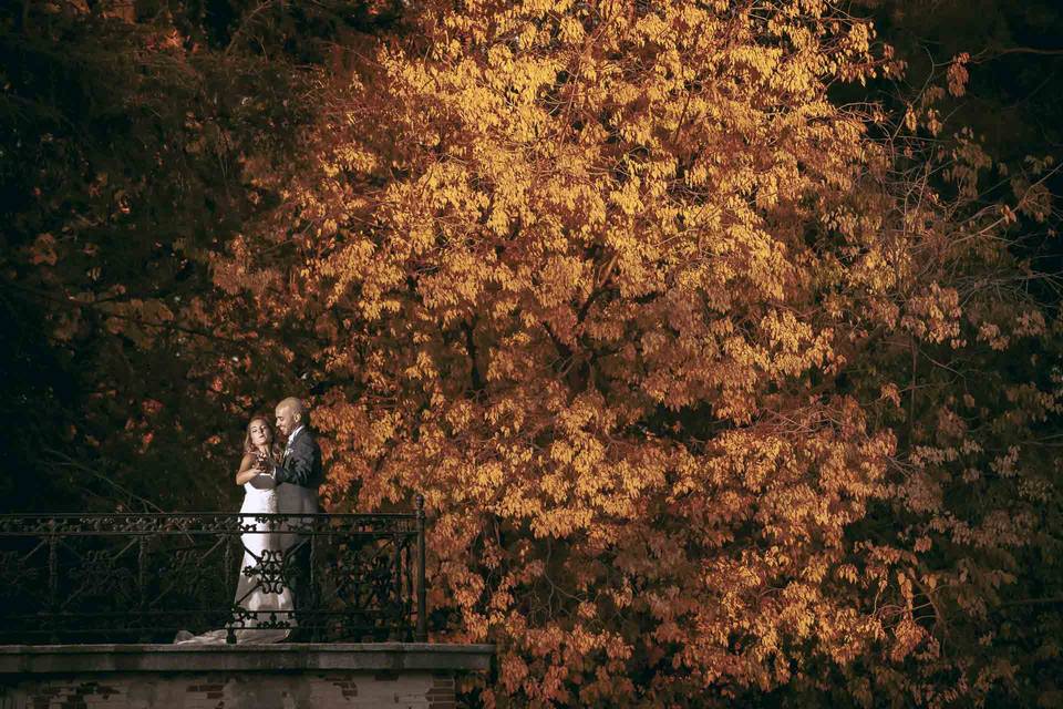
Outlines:
<svg viewBox="0 0 1063 709"><path fill-rule="evenodd" d="M1051 706L1061 323L1016 233L1055 167L991 191L967 60L898 111L837 97L904 66L817 0L385 24L291 74L287 162L239 154L268 208L166 308L233 342L185 333L211 401L310 394L332 508L425 495L434 637L498 645L468 696Z"/></svg>

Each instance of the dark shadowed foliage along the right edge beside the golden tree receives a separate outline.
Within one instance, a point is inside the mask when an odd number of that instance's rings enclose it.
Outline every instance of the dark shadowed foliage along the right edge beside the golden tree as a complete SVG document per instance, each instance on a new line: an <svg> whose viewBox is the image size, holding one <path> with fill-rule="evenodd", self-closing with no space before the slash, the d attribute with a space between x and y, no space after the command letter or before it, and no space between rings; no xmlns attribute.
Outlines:
<svg viewBox="0 0 1063 709"><path fill-rule="evenodd" d="M1057 386L1060 332L1054 325L1015 341L1010 332L1024 330L1009 325L1036 320L1039 311L1049 322L1059 317L1063 214L1053 195L1063 189L1063 174L1053 78L1063 61L1063 14L1055 3L1039 1L949 0L932 13L909 2L858 4L875 12L876 27L906 60L902 80L878 82L871 94L908 111L910 121L918 116L919 138L909 135L897 147L938 154L932 169L911 166L937 196L953 198L952 219L981 213L1007 222L995 251L1003 257L994 256L994 267L987 273L983 263L977 276L966 271L961 279L952 271L963 318L979 326L980 343L920 347L908 376L917 392L908 408L917 414L899 427L914 432L907 441L901 436L899 452L922 469L920 483L929 483L937 505L929 524L916 525L928 532L920 543L933 544L919 567L933 569L940 584L928 606L932 628L949 654L964 648L968 667L995 665L985 670L999 677L991 703L1053 706L1061 701L1054 637L1063 626L1063 518L1057 424L1053 400L1044 395ZM951 164L957 156L960 164ZM1015 208L1001 215L1001 203ZM926 444L941 423L963 433L951 444L938 438L930 455L943 455L943 464L928 465L926 451L912 454L911 448ZM953 458L958 442L967 453L962 463ZM976 450L981 455L971 456ZM1029 525L1021 543L993 527L1007 515ZM938 534L942 527L948 534ZM993 533L979 532L990 527ZM987 684L983 676L979 690Z"/></svg>

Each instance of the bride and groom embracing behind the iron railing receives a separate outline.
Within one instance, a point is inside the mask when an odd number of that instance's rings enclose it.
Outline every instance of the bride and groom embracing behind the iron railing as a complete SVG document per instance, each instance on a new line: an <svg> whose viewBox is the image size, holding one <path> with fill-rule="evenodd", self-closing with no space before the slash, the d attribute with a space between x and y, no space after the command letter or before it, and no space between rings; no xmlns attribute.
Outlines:
<svg viewBox="0 0 1063 709"><path fill-rule="evenodd" d="M240 513L312 514L318 512L318 486L324 481L321 449L307 429L309 417L300 399L277 404L276 433L266 417L247 424L244 458L236 484L244 486ZM313 604L308 578L309 544L287 524L267 518L242 517L244 558L234 604L233 625L237 643L279 643L290 639L299 610ZM287 569L287 571L285 571ZM210 630L193 636L182 630L178 644L225 643L228 631Z"/></svg>

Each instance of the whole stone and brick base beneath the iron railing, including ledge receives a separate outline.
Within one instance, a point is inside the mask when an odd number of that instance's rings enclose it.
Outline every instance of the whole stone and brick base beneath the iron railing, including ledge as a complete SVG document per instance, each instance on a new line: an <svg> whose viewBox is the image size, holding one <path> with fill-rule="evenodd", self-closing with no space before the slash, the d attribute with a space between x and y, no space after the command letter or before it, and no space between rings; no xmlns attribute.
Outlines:
<svg viewBox="0 0 1063 709"><path fill-rule="evenodd" d="M456 674L487 669L493 653L427 644L9 646L0 647L0 709L455 709Z"/></svg>

